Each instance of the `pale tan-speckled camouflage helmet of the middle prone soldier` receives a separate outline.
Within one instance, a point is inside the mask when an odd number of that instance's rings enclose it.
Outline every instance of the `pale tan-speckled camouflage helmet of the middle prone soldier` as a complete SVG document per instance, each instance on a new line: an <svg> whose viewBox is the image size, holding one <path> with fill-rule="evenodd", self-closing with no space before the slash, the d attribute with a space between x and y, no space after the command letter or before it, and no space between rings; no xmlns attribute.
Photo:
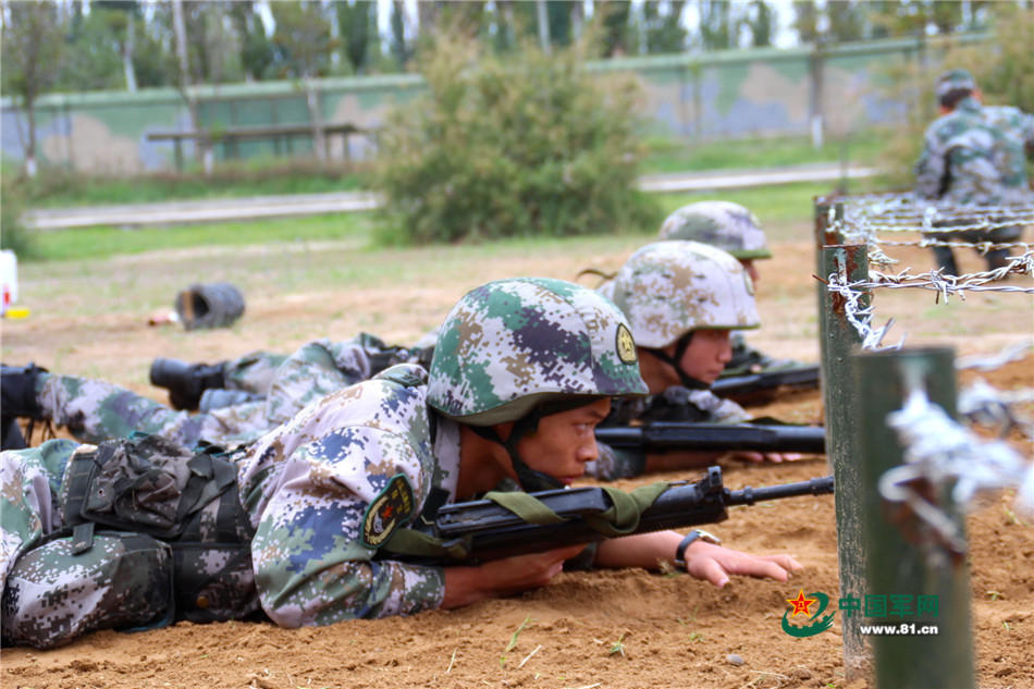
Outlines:
<svg viewBox="0 0 1034 689"><path fill-rule="evenodd" d="M758 328L754 287L729 254L699 242L656 242L632 254L614 279L614 303L632 336L660 349L694 330Z"/></svg>

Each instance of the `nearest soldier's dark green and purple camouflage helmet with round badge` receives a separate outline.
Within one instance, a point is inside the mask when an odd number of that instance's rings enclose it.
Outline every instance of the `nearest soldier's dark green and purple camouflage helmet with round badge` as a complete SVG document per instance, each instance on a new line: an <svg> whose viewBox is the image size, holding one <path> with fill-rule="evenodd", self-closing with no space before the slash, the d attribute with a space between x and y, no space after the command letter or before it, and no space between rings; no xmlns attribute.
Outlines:
<svg viewBox="0 0 1034 689"><path fill-rule="evenodd" d="M428 403L471 426L515 421L546 402L645 393L621 312L546 278L467 293L439 332L428 379Z"/></svg>

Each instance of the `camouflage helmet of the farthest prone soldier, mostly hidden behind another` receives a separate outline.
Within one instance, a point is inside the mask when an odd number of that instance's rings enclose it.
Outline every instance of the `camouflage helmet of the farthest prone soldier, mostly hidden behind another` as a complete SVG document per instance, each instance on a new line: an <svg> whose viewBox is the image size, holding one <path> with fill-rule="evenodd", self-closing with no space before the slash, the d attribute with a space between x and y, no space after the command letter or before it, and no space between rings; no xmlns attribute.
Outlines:
<svg viewBox="0 0 1034 689"><path fill-rule="evenodd" d="M682 206L664 220L660 236L710 244L741 259L772 256L758 217L731 201Z"/></svg>

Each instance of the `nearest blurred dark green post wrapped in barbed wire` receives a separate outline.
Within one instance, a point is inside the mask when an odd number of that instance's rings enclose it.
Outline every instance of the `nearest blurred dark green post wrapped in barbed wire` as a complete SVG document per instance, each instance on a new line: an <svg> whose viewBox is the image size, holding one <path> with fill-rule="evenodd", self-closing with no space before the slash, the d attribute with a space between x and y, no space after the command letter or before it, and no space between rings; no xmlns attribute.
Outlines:
<svg viewBox="0 0 1034 689"><path fill-rule="evenodd" d="M879 495L877 482L885 471L902 463L902 447L887 427L887 415L900 409L911 385L925 390L934 404L955 416L955 355L947 347L865 353L852 360L858 389L857 433L864 491L867 590L857 624L915 628L936 625L939 633L872 637L876 686L972 689L973 637L970 619L970 577L963 558L932 558L943 546L932 531L901 509L891 510ZM914 485L923 491L922 485ZM927 485L927 488L930 488ZM840 484L837 483L839 492ZM963 533L964 521L944 495L927 496ZM916 526L919 525L919 526ZM902 528L904 527L904 528ZM908 536L906 536L908 534ZM921 598L922 596L922 598ZM886 616L878 613L886 601ZM866 610L869 603L875 613ZM897 602L911 613L891 614ZM931 610L936 605L936 612ZM924 607L926 608L925 612ZM870 613L870 614L866 614ZM867 618L867 619L862 619Z"/></svg>

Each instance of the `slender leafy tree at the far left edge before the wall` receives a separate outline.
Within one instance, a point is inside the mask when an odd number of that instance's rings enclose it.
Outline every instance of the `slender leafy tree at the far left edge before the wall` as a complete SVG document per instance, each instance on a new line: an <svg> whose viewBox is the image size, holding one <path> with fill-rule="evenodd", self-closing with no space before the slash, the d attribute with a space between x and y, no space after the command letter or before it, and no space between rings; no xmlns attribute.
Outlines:
<svg viewBox="0 0 1034 689"><path fill-rule="evenodd" d="M57 81L67 19L49 2L5 2L0 5L3 90L25 111L27 132L19 130L25 149L25 173L36 176L36 99Z"/></svg>

